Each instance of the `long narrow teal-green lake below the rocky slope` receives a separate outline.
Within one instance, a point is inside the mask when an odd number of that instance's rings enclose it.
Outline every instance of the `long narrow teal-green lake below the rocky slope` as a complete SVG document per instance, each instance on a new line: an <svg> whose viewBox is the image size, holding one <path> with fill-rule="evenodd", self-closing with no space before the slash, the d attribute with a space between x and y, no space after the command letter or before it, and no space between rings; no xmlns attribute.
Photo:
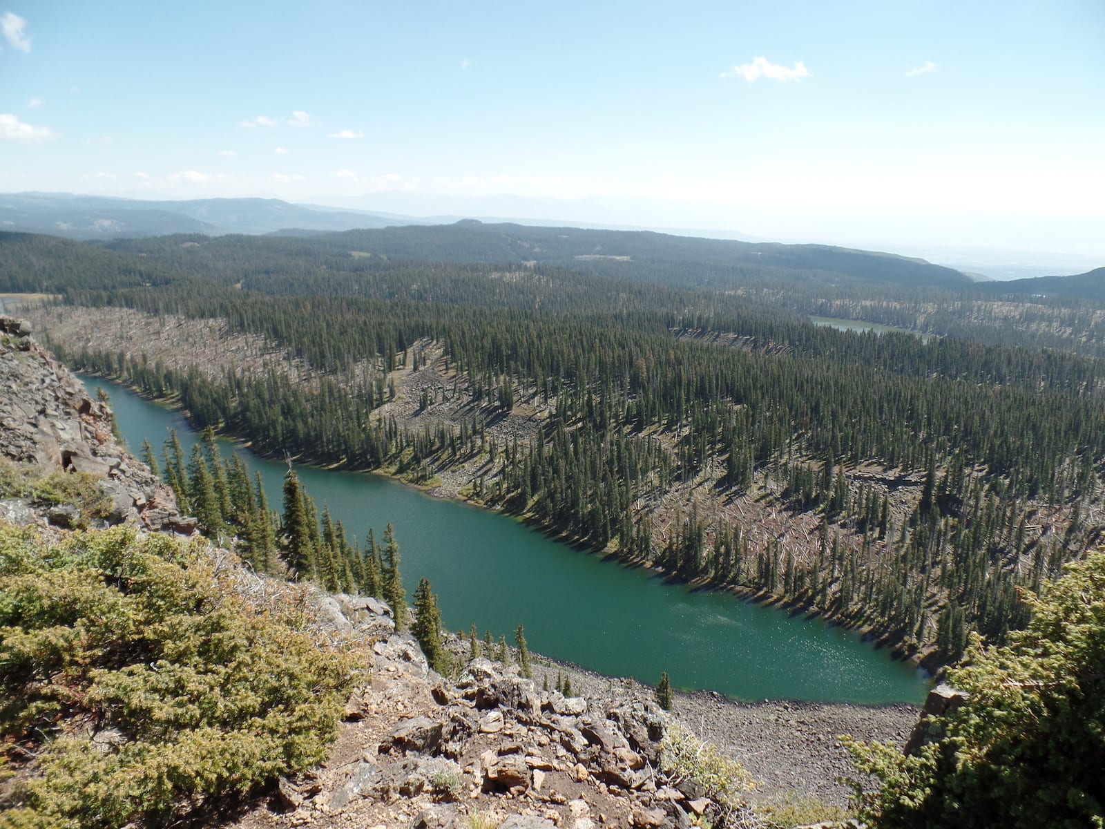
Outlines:
<svg viewBox="0 0 1105 829"><path fill-rule="evenodd" d="M180 412L117 385L84 377L93 396L112 398L131 452L144 438L158 457L176 429L186 452L198 440ZM261 472L270 506L281 507L287 465L221 440ZM515 518L435 499L391 479L295 466L322 513L328 505L347 534L382 537L388 522L400 545L409 594L425 577L452 630L472 622L496 640L526 627L532 650L612 676L650 684L661 671L684 690L709 689L743 700L890 703L924 700L927 681L859 634L822 620L791 617L730 594L693 590L655 574L603 560L537 533Z"/></svg>

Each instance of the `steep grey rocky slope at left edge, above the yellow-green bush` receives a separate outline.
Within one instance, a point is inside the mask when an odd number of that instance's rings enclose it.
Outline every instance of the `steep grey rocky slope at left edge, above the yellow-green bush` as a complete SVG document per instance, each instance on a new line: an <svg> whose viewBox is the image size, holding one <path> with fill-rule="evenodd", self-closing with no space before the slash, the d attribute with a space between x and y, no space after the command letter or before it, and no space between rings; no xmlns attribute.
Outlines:
<svg viewBox="0 0 1105 829"><path fill-rule="evenodd" d="M34 342L25 322L9 316L0 316L0 457L46 472L101 478L110 499L108 523L185 534L196 528L194 520L178 512L172 490L115 440L109 407L88 397L83 384ZM20 523L35 517L10 502L0 508L0 517L15 514ZM72 507L55 507L43 521L70 527L78 517Z"/></svg>

